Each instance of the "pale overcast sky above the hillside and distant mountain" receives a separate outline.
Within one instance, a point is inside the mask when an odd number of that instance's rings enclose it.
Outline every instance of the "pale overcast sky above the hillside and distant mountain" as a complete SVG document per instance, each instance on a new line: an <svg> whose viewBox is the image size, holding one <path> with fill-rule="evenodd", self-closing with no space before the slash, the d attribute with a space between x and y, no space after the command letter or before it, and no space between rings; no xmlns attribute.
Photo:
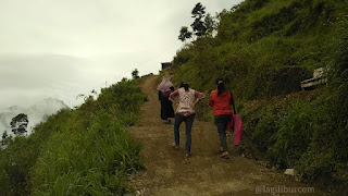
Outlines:
<svg viewBox="0 0 348 196"><path fill-rule="evenodd" d="M197 2L215 15L241 0L0 0L0 112L157 74Z"/></svg>

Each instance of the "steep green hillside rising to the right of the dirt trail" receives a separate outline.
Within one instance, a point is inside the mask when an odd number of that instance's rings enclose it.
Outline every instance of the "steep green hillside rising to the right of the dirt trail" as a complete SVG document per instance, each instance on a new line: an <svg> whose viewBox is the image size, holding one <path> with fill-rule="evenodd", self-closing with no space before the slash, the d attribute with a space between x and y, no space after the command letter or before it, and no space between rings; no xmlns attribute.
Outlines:
<svg viewBox="0 0 348 196"><path fill-rule="evenodd" d="M224 77L247 137L273 166L296 168L307 182L345 187L347 8L345 0L246 0L221 12L217 35L186 44L167 71L207 95ZM327 86L300 91L318 68ZM198 113L212 121L204 106Z"/></svg>

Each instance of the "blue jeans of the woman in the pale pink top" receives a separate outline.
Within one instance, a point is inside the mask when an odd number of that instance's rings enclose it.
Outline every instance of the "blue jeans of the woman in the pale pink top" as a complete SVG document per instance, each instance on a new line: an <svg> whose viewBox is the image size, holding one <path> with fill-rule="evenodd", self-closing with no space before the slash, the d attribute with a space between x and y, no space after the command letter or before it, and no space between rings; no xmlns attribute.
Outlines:
<svg viewBox="0 0 348 196"><path fill-rule="evenodd" d="M175 145L181 144L179 127L181 127L182 122L185 122L185 125L186 125L185 154L190 154L190 151L191 151L191 128L192 128L195 117L196 117L196 113L192 113L187 117L175 113L175 122L174 122Z"/></svg>

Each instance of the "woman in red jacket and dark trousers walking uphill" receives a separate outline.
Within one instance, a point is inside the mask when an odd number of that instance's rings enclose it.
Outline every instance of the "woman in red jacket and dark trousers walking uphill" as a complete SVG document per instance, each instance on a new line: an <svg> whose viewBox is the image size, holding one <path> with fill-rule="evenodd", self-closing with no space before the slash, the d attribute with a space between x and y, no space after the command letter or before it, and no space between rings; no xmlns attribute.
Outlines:
<svg viewBox="0 0 348 196"><path fill-rule="evenodd" d="M215 125L217 127L221 143L221 158L228 158L226 143L226 125L232 120L233 111L231 106L234 105L232 93L225 89L224 81L221 77L215 79L216 89L210 94L209 106L213 107Z"/></svg>

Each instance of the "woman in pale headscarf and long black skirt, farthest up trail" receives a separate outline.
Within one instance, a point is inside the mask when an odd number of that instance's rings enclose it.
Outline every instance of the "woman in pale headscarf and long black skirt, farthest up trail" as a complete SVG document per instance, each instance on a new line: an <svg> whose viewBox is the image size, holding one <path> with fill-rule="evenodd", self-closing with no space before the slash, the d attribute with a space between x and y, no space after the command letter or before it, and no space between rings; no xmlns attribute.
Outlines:
<svg viewBox="0 0 348 196"><path fill-rule="evenodd" d="M170 94L174 91L174 86L171 81L164 76L157 89L159 90L159 101L161 102L161 119L165 124L170 124L170 118L174 118L174 109L169 97Z"/></svg>

